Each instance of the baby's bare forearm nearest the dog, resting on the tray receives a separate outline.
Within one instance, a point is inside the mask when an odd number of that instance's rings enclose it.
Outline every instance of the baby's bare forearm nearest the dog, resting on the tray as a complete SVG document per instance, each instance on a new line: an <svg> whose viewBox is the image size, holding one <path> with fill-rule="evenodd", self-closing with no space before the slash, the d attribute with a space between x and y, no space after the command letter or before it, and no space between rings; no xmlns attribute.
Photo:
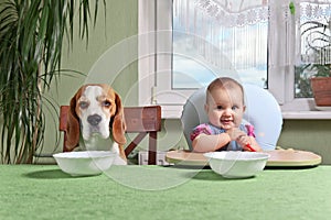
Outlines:
<svg viewBox="0 0 331 220"><path fill-rule="evenodd" d="M225 146L231 141L227 133L221 134L199 134L192 141L193 152L214 152L223 146Z"/></svg>

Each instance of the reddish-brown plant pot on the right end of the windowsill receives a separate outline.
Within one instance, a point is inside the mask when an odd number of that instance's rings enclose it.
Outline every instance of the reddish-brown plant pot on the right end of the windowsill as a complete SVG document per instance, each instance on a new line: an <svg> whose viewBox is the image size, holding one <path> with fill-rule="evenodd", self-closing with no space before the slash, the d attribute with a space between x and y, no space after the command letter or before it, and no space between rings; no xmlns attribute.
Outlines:
<svg viewBox="0 0 331 220"><path fill-rule="evenodd" d="M314 77L310 84L316 106L331 106L331 77Z"/></svg>

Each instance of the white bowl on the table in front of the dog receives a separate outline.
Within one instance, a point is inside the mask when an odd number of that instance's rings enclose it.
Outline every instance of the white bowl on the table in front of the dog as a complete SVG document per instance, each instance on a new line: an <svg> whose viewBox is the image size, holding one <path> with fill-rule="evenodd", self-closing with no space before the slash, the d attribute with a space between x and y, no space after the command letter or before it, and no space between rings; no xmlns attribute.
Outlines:
<svg viewBox="0 0 331 220"><path fill-rule="evenodd" d="M60 168L72 176L102 174L110 168L116 154L109 151L82 151L54 154Z"/></svg>

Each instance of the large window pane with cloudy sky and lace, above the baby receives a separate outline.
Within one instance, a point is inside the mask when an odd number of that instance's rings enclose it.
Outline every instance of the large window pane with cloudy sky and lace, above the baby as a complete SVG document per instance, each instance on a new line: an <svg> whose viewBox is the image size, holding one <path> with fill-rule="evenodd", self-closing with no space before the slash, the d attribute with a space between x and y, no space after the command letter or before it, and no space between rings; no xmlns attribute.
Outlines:
<svg viewBox="0 0 331 220"><path fill-rule="evenodd" d="M248 3L241 10L256 8L229 13L238 9L204 0L173 1L172 89L196 89L215 75L267 88L267 2Z"/></svg>

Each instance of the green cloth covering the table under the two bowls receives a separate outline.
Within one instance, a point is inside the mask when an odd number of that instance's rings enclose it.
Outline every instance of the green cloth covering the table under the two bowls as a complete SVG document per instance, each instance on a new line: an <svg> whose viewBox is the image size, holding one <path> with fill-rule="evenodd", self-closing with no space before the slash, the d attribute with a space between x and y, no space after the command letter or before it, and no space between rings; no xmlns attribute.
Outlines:
<svg viewBox="0 0 331 220"><path fill-rule="evenodd" d="M329 219L331 166L229 180L210 169L113 166L71 177L52 165L0 165L1 219Z"/></svg>

